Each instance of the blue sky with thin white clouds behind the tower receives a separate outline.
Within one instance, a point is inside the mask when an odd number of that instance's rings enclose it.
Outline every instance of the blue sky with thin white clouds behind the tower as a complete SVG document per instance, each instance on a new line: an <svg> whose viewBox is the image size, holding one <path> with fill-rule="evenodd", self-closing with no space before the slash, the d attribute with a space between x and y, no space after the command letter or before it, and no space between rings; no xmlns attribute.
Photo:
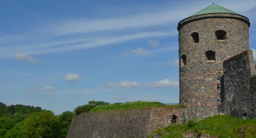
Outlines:
<svg viewBox="0 0 256 138"><path fill-rule="evenodd" d="M178 103L177 24L212 2L250 19L256 49L256 1L2 1L0 101Z"/></svg>

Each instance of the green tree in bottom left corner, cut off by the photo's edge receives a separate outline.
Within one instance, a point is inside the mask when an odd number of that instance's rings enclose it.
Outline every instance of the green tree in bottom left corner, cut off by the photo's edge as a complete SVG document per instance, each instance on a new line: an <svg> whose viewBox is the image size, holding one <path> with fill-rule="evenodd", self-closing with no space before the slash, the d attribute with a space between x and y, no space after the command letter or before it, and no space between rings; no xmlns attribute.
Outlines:
<svg viewBox="0 0 256 138"><path fill-rule="evenodd" d="M0 136L3 136L12 127L15 126L15 121L9 117L0 118Z"/></svg>

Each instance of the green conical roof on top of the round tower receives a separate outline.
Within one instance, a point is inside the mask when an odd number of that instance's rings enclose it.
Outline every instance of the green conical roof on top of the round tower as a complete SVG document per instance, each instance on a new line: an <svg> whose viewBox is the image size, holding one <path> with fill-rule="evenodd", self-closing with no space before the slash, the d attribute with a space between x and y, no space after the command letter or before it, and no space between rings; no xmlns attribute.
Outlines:
<svg viewBox="0 0 256 138"><path fill-rule="evenodd" d="M220 5L217 4L212 4L208 7L206 7L205 9L191 15L190 17L194 17L196 15L202 15L202 14L208 14L208 13L231 13L231 14L238 14L236 12L233 12L231 10L228 10L226 7L222 7ZM240 15L240 14L238 14Z"/></svg>

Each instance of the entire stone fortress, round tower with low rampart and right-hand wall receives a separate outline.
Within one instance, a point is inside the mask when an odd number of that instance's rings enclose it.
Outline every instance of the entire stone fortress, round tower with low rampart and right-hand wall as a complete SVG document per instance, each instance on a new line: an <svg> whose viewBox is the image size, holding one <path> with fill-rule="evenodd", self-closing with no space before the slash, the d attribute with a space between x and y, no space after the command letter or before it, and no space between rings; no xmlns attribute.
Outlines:
<svg viewBox="0 0 256 138"><path fill-rule="evenodd" d="M158 128L226 114L256 118L256 67L249 50L249 19L212 4L181 20L180 104L75 115L67 137L147 137Z"/></svg>

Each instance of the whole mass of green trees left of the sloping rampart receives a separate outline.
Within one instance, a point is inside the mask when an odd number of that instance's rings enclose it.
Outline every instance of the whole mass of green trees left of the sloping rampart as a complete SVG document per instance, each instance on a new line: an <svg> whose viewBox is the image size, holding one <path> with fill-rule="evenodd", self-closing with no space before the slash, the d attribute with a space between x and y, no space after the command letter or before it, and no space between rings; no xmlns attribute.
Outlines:
<svg viewBox="0 0 256 138"><path fill-rule="evenodd" d="M66 137L74 113L55 116L50 110L0 102L0 138Z"/></svg>

